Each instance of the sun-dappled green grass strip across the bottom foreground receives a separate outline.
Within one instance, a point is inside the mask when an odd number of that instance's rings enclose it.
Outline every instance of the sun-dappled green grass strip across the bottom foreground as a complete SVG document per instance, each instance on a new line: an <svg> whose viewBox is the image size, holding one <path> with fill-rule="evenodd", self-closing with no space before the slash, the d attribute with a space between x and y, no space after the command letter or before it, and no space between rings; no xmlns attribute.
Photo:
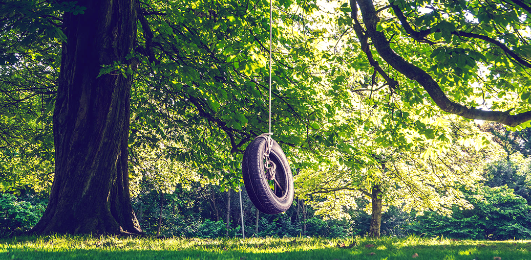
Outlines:
<svg viewBox="0 0 531 260"><path fill-rule="evenodd" d="M372 246L371 246L372 245ZM110 236L0 239L2 259L466 259L531 260L531 241L382 238L122 238ZM418 256L416 256L418 255ZM414 257L416 256L416 257Z"/></svg>

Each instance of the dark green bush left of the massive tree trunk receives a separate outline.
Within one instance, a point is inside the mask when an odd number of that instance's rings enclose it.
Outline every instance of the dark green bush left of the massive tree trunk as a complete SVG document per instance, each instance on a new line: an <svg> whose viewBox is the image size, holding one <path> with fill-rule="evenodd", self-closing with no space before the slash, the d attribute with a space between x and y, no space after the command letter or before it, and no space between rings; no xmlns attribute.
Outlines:
<svg viewBox="0 0 531 260"><path fill-rule="evenodd" d="M0 193L0 236L11 236L30 230L46 209L46 202L31 196L17 198Z"/></svg>

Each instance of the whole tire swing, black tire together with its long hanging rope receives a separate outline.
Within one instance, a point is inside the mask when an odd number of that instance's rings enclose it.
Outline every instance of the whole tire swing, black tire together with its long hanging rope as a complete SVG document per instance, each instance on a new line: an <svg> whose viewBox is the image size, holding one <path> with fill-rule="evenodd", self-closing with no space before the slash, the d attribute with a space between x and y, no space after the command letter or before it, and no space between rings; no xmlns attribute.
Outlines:
<svg viewBox="0 0 531 260"><path fill-rule="evenodd" d="M282 148L271 138L272 0L269 2L269 132L254 138L243 154L245 190L254 206L265 214L278 214L293 202L293 175Z"/></svg>

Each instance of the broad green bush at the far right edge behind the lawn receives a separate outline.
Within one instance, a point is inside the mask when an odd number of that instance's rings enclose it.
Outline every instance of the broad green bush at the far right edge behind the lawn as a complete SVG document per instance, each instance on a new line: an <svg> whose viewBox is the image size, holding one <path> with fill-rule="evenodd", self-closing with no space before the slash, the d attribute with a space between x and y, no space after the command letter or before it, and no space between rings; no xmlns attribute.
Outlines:
<svg viewBox="0 0 531 260"><path fill-rule="evenodd" d="M466 194L472 210L454 209L452 217L429 212L410 227L415 234L460 239L531 239L531 206L507 186L482 187Z"/></svg>

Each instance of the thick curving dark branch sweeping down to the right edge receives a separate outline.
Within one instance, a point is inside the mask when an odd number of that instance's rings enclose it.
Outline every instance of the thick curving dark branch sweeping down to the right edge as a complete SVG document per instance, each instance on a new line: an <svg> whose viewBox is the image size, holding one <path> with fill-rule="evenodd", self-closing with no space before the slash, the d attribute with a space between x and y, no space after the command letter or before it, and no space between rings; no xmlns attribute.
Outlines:
<svg viewBox="0 0 531 260"><path fill-rule="evenodd" d="M404 58L397 55L387 41L383 32L376 30L376 24L379 18L371 0L358 0L359 7L362 11L363 22L365 23L366 33L372 39L372 43L380 56L388 62L393 68L404 74L409 79L416 80L425 91L430 95L435 104L444 112L457 114L468 119L481 119L495 121L502 124L515 127L518 124L531 120L531 111L511 115L509 111L484 111L475 107L466 107L459 103L451 101L441 90L441 87L435 80L421 68L410 64Z"/></svg>

